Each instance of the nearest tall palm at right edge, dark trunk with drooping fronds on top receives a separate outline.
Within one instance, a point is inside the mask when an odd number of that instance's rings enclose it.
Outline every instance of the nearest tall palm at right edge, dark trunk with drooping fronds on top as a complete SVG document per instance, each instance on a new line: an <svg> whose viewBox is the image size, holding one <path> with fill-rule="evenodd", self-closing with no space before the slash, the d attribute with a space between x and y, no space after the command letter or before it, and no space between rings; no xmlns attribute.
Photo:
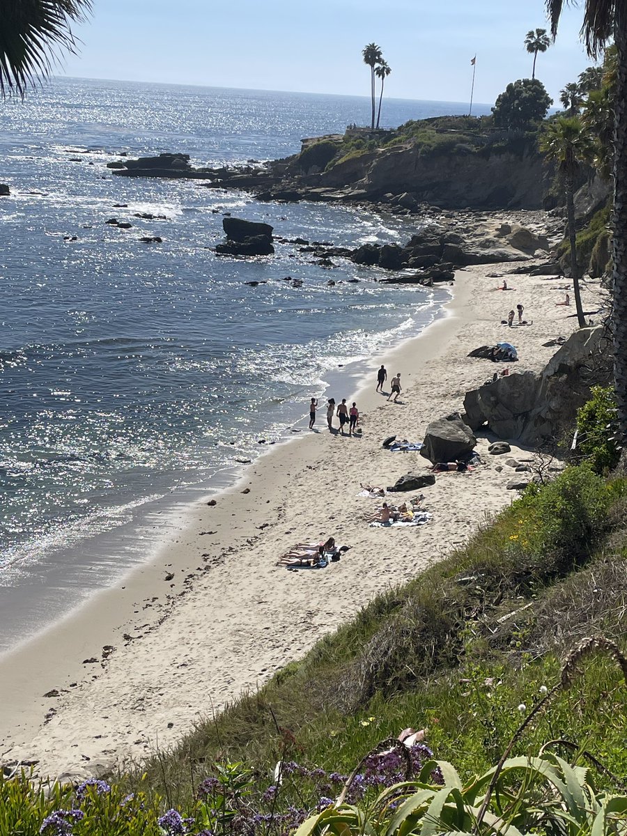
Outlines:
<svg viewBox="0 0 627 836"><path fill-rule="evenodd" d="M558 33L564 0L546 0L553 38ZM627 441L627 4L624 0L585 0L581 35L596 58L610 38L616 48L614 91L614 235L612 238L612 335L614 385L619 428Z"/></svg>

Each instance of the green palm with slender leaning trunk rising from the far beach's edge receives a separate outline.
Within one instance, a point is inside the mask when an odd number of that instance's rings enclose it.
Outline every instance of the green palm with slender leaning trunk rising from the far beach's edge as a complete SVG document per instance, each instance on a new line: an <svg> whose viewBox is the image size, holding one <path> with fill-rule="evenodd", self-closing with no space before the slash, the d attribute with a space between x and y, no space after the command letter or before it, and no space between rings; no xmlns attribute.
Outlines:
<svg viewBox="0 0 627 836"><path fill-rule="evenodd" d="M548 122L540 136L540 150L547 159L557 163L566 191L566 217L568 218L568 239L570 241L570 273L573 279L573 294L579 328L584 328L584 308L581 306L579 289L579 265L575 241L574 183L582 163L590 162L594 155L594 144L578 116L558 116Z"/></svg>

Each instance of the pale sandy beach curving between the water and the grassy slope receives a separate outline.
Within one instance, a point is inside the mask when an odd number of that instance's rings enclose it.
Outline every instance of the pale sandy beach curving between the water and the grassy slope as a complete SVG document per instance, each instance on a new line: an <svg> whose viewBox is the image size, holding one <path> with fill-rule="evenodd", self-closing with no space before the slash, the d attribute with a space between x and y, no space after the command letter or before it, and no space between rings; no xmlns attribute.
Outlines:
<svg viewBox="0 0 627 836"><path fill-rule="evenodd" d="M487 226L520 220L521 213L502 212ZM215 505L191 507L156 558L120 587L1 658L0 761L36 760L55 775L90 773L171 746L516 498L506 488L512 467L502 460L528 462L533 451L512 443L510 456L491 456L486 433L477 443L485 464L438 474L424 489L432 514L425 526L370 528L363 514L377 503L357 496L360 482L387 487L406 472L429 472L418 453L392 453L381 441L393 434L422 441L429 421L461 410L466 390L502 365L469 359L470 350L506 339L518 350L512 374L538 371L556 350L543 343L573 331L573 304L556 306L572 283L507 276L515 289L498 291L502 279L487 274L512 266L458 271L446 318L374 359L357 392L332 393L357 401L360 437L329 433L321 409L316 432L254 461L235 487L213 497ZM585 310L598 308L599 284L584 286L583 298ZM533 325L508 329L501 320L517 303ZM398 404L375 393L381 362L386 395L401 372ZM305 401L303 415L306 409ZM294 543L329 536L351 547L338 563L298 571L276 565Z"/></svg>

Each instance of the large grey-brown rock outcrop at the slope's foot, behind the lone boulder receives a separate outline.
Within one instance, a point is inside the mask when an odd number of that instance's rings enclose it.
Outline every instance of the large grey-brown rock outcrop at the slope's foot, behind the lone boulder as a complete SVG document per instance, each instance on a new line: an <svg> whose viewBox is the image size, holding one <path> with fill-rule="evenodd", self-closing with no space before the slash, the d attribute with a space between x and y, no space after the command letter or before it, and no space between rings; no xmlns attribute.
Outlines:
<svg viewBox="0 0 627 836"><path fill-rule="evenodd" d="M553 439L589 395L581 371L599 352L602 334L601 326L579 329L539 375L508 375L466 392L464 421L473 431L487 425L499 438L527 445Z"/></svg>

